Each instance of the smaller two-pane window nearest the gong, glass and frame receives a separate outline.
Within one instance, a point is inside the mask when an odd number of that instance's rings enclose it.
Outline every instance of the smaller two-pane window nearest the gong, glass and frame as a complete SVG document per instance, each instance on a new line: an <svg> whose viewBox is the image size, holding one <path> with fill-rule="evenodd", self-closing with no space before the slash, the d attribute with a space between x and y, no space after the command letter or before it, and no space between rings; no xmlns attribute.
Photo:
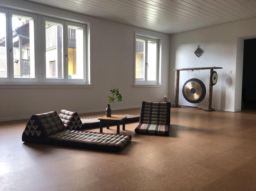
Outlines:
<svg viewBox="0 0 256 191"><path fill-rule="evenodd" d="M135 84L158 83L158 40L136 36Z"/></svg>

